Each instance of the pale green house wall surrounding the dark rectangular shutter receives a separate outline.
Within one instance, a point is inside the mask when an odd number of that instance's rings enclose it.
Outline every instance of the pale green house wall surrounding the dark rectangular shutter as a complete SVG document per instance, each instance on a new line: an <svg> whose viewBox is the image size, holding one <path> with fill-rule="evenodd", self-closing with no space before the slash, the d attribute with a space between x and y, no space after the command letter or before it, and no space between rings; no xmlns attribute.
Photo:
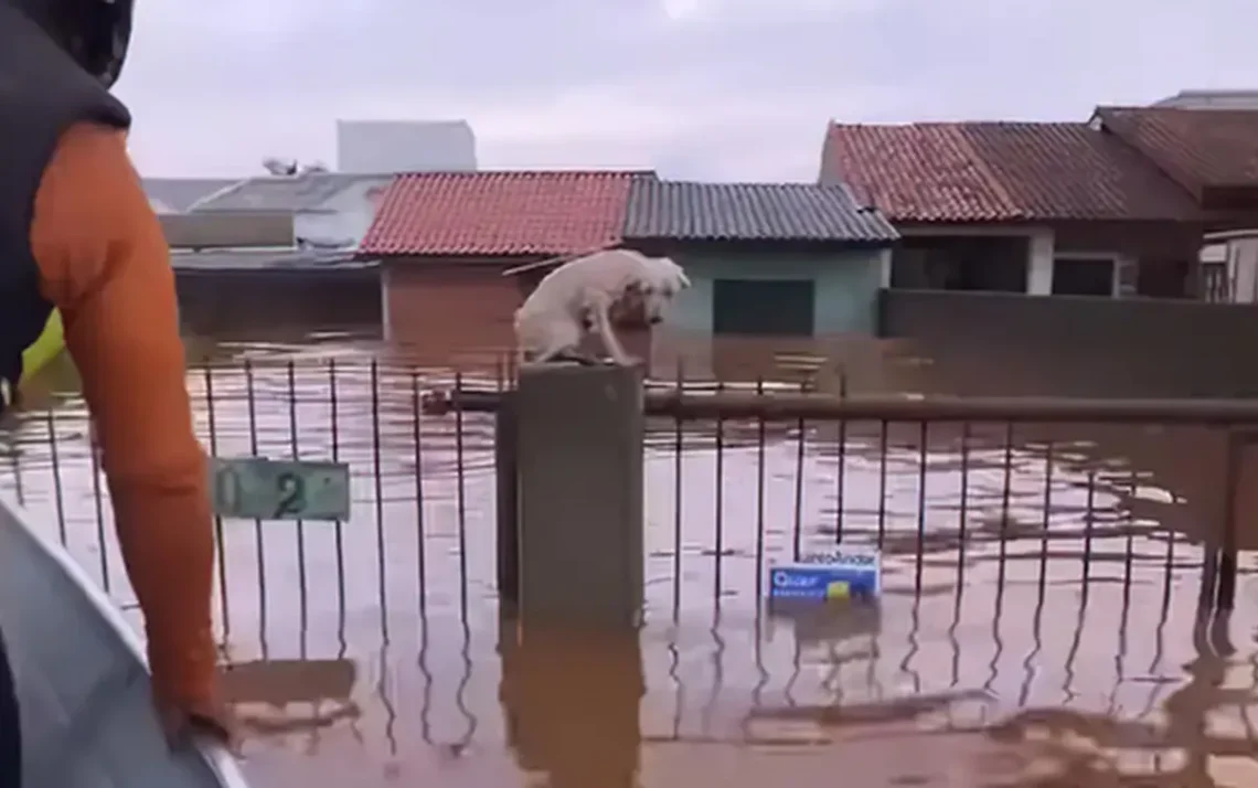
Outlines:
<svg viewBox="0 0 1258 788"><path fill-rule="evenodd" d="M712 332L716 279L811 279L815 282L814 334L873 334L884 250L740 252L676 250L692 287L673 302L668 325L684 332Z"/></svg>

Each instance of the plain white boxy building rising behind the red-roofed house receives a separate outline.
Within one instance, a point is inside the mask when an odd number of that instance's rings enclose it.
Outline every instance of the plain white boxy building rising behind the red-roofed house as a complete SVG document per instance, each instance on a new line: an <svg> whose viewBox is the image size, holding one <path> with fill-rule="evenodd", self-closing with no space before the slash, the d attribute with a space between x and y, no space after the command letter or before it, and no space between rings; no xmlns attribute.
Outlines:
<svg viewBox="0 0 1258 788"><path fill-rule="evenodd" d="M474 171L476 135L467 121L337 121L341 172Z"/></svg>

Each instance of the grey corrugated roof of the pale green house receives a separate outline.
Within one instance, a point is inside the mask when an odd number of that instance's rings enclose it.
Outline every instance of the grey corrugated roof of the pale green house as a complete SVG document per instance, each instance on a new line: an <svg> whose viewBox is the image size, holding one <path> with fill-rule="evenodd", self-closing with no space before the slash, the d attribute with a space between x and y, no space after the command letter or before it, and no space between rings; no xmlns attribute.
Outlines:
<svg viewBox="0 0 1258 788"><path fill-rule="evenodd" d="M634 181L625 238L676 240L813 240L891 243L899 238L878 211L843 186Z"/></svg>

